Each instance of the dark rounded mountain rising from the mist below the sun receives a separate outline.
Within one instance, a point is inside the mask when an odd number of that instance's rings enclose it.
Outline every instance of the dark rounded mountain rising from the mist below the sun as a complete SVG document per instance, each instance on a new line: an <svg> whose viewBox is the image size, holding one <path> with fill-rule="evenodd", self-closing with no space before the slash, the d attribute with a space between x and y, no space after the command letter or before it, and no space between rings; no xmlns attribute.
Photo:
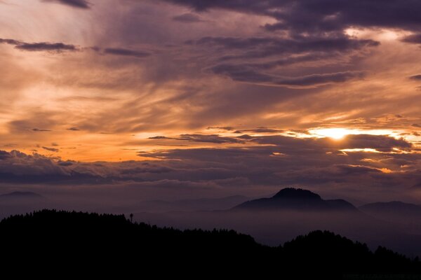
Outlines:
<svg viewBox="0 0 421 280"><path fill-rule="evenodd" d="M243 202L235 210L321 210L356 211L346 200L323 200L320 195L301 188L284 188L273 197Z"/></svg>

